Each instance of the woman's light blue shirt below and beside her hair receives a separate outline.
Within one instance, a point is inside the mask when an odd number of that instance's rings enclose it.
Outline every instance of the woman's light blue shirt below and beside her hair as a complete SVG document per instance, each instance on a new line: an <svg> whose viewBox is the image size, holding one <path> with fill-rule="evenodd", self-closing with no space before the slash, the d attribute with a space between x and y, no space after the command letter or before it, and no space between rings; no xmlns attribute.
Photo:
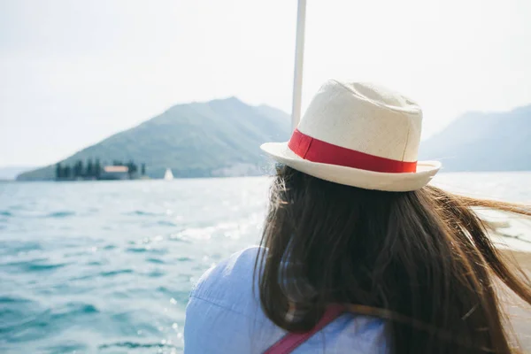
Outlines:
<svg viewBox="0 0 531 354"><path fill-rule="evenodd" d="M262 353L286 334L267 319L252 279L258 247L235 253L208 270L189 298L185 354ZM388 353L381 319L344 314L294 353Z"/></svg>

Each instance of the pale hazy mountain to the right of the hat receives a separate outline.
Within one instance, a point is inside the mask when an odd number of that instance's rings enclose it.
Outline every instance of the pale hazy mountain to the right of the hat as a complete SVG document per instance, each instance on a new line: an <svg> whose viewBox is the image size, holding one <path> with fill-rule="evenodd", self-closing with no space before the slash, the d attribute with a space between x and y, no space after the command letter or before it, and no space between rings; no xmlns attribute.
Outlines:
<svg viewBox="0 0 531 354"><path fill-rule="evenodd" d="M511 112L468 112L420 145L419 159L444 171L530 171L531 104Z"/></svg>

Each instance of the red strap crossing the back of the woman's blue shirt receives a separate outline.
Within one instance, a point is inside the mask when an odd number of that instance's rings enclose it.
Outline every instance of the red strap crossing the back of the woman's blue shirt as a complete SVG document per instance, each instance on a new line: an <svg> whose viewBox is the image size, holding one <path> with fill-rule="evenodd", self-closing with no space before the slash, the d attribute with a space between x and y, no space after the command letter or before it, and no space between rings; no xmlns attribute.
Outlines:
<svg viewBox="0 0 531 354"><path fill-rule="evenodd" d="M289 333L284 335L279 342L274 343L268 350L264 351L264 354L288 354L296 349L299 345L306 342L312 335L315 335L324 327L337 319L342 313L345 312L344 306L335 304L327 307L327 311L323 314L323 317L319 319L319 322L315 327L306 333Z"/></svg>

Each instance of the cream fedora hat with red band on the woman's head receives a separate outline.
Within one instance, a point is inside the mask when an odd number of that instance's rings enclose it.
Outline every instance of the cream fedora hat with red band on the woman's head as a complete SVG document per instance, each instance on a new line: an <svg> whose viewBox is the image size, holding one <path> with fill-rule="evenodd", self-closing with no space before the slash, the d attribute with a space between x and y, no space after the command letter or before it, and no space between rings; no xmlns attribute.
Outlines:
<svg viewBox="0 0 531 354"><path fill-rule="evenodd" d="M327 81L289 142L261 146L282 164L361 189L411 191L441 168L417 161L422 111L411 99L370 83Z"/></svg>

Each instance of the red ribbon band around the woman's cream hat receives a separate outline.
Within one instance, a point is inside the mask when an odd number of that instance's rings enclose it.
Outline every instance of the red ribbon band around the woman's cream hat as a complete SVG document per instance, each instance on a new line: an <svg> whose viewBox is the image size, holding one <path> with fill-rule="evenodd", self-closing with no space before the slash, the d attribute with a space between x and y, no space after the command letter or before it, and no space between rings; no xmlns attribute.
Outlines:
<svg viewBox="0 0 531 354"><path fill-rule="evenodd" d="M288 146L299 157L321 164L342 165L384 173L410 173L417 171L417 161L398 161L346 149L314 139L312 136L301 133L298 129L291 135Z"/></svg>

